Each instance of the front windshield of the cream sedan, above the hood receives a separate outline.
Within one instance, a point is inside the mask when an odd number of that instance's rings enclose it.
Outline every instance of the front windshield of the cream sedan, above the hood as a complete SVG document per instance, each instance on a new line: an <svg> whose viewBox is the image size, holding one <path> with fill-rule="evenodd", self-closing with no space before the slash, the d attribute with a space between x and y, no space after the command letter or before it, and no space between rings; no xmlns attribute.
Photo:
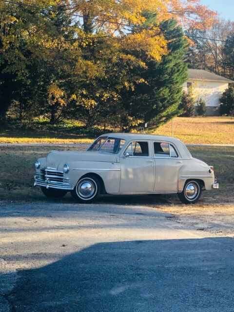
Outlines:
<svg viewBox="0 0 234 312"><path fill-rule="evenodd" d="M124 144L125 140L118 137L98 137L88 148L88 151L102 151L117 154Z"/></svg>

